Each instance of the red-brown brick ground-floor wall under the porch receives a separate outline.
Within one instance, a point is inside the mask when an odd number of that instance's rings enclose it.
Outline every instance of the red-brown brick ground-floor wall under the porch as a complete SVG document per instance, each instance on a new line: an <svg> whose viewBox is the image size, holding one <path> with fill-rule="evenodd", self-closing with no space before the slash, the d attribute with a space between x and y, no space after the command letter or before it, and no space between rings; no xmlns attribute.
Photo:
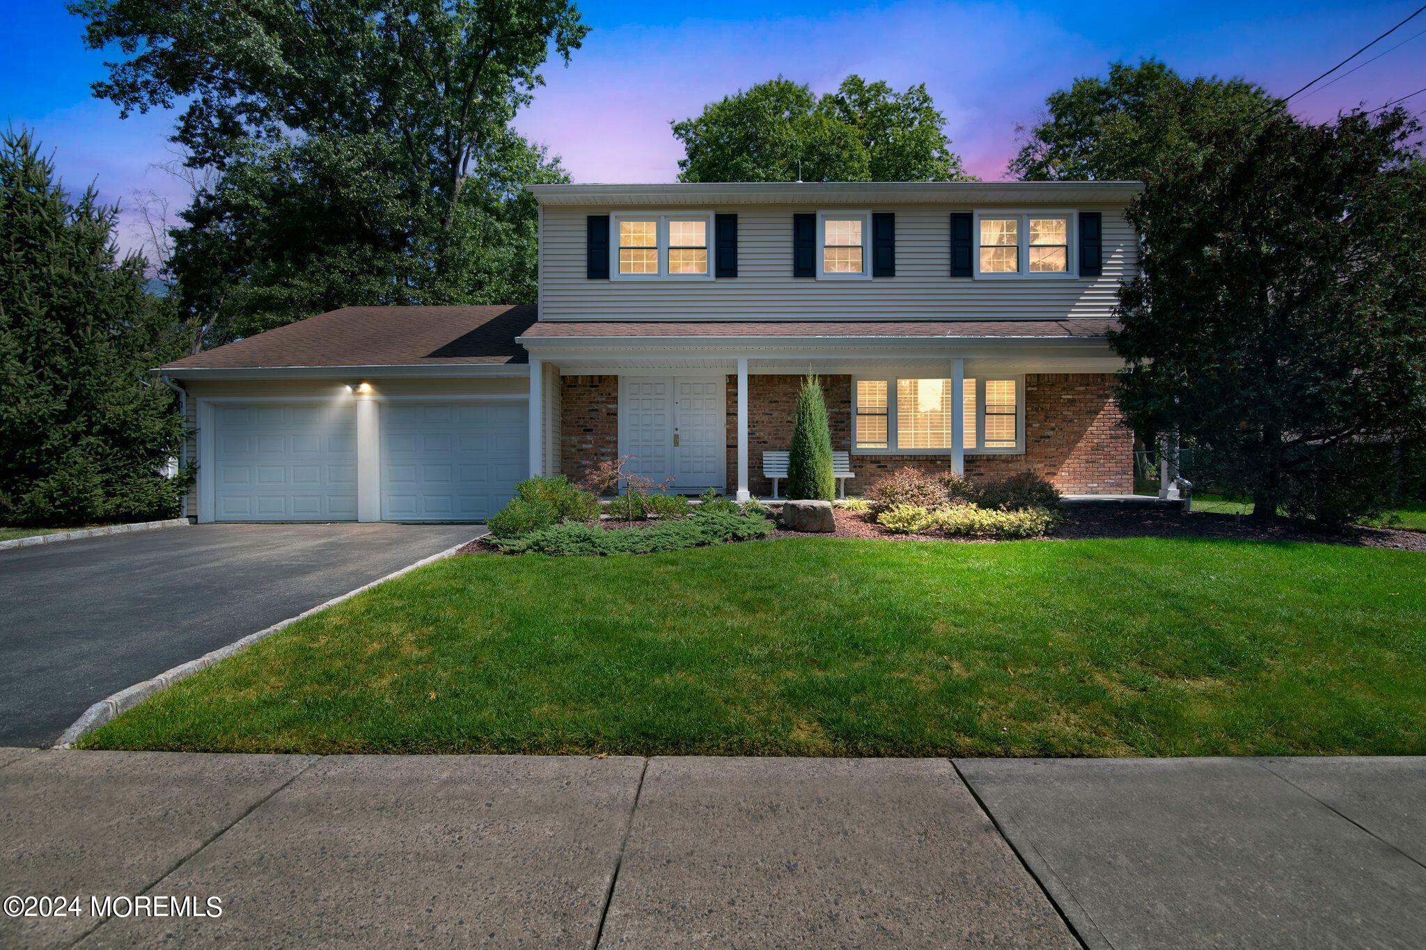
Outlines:
<svg viewBox="0 0 1426 950"><path fill-rule="evenodd" d="M851 449L851 376L823 376L831 447ZM1134 491L1134 433L1109 395L1108 373L1025 376L1025 454L965 456L965 474L1000 479L1030 469L1067 494ZM747 377L747 474L754 496L771 493L763 477L763 451L793 440L800 376ZM615 376L566 376L562 387L563 471L582 479L586 460L619 451L619 380ZM851 456L857 473L848 489L860 494L880 476L903 466L950 471L950 456ZM737 489L737 377L727 377L727 491Z"/></svg>

